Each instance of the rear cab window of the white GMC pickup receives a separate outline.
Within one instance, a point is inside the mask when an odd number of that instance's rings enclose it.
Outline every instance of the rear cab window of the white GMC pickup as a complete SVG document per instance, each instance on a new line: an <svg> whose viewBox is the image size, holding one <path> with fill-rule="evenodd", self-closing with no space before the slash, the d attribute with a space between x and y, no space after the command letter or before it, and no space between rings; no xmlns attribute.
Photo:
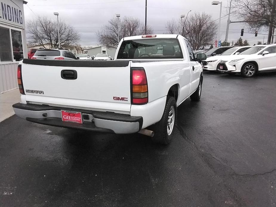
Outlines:
<svg viewBox="0 0 276 207"><path fill-rule="evenodd" d="M148 38L122 42L117 59L183 58L176 38Z"/></svg>

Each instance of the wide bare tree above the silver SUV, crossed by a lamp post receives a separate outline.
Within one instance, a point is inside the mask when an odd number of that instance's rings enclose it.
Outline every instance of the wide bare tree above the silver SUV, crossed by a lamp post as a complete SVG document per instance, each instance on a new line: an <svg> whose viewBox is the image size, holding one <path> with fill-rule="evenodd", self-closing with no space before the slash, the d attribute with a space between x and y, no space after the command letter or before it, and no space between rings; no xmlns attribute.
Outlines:
<svg viewBox="0 0 276 207"><path fill-rule="evenodd" d="M44 48L58 48L57 22L47 17L38 17L27 22L28 44L40 45ZM75 45L80 40L79 33L73 26L64 21L59 23L60 45Z"/></svg>

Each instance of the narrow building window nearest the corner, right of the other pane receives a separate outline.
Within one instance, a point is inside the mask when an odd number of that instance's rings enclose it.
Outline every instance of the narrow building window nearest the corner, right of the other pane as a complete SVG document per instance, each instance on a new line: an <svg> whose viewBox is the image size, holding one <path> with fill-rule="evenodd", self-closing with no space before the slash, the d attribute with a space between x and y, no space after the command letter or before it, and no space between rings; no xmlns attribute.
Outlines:
<svg viewBox="0 0 276 207"><path fill-rule="evenodd" d="M13 59L19 61L24 58L21 31L10 30L13 45Z"/></svg>

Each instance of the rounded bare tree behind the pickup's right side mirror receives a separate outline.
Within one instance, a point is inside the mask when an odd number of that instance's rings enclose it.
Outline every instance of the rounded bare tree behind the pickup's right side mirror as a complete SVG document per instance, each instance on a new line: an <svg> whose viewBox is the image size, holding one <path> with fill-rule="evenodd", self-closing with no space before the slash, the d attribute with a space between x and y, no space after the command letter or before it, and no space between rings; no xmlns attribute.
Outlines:
<svg viewBox="0 0 276 207"><path fill-rule="evenodd" d="M184 37L188 39L194 50L204 49L213 44L217 34L217 23L206 13L193 13L184 25Z"/></svg>

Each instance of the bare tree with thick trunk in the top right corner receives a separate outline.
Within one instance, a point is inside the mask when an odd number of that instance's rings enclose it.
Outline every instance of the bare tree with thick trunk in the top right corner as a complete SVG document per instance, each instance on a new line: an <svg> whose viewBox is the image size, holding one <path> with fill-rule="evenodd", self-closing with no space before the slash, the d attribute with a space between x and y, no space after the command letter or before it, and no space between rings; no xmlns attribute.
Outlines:
<svg viewBox="0 0 276 207"><path fill-rule="evenodd" d="M267 43L270 43L273 27L276 26L276 0L235 0L235 13L252 29L268 27Z"/></svg>

